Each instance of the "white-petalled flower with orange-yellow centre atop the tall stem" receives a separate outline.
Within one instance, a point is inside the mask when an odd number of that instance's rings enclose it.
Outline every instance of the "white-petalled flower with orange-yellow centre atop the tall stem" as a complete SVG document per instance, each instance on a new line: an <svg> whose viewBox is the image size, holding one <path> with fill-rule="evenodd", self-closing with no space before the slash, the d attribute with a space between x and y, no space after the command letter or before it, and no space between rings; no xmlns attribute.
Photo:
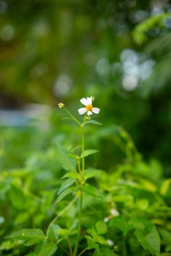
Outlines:
<svg viewBox="0 0 171 256"><path fill-rule="evenodd" d="M92 115L92 113L98 114L100 111L100 108L94 108L92 105L92 97L81 98L80 102L86 106L86 108L79 108L78 113L79 115L83 115L88 111L88 116Z"/></svg>

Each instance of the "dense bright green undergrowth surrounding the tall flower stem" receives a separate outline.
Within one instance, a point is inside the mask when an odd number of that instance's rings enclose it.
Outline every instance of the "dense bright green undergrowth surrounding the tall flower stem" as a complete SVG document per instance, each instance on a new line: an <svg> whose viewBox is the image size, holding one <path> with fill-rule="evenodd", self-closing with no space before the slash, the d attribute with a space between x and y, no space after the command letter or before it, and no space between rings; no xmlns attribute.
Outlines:
<svg viewBox="0 0 171 256"><path fill-rule="evenodd" d="M145 162L121 127L92 127L86 127L90 139L84 152L77 255L171 255L171 189L162 164ZM66 143L67 133L46 135L50 143L30 131L7 129L1 135L0 255L73 255L80 145ZM72 136L73 141L79 136ZM121 162L114 159L113 146L122 150Z"/></svg>

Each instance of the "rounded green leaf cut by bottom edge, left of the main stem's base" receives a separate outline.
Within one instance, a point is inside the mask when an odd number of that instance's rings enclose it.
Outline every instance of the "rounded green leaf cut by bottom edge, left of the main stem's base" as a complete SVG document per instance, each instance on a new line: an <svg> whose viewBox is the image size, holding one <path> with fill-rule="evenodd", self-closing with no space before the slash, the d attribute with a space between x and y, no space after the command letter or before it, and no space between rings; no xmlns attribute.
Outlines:
<svg viewBox="0 0 171 256"><path fill-rule="evenodd" d="M52 242L42 241L36 247L35 253L38 256L51 256L57 251L57 245Z"/></svg>

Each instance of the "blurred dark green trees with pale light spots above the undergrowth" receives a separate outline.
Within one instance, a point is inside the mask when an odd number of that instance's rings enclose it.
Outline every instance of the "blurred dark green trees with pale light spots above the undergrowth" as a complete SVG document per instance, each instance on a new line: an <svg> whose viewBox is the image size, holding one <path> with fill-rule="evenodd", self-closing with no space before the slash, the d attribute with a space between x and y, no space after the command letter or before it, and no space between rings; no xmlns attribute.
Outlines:
<svg viewBox="0 0 171 256"><path fill-rule="evenodd" d="M74 109L75 100L93 94L102 123L125 127L145 157L166 164L168 175L170 1L0 5L0 106L63 100Z"/></svg>

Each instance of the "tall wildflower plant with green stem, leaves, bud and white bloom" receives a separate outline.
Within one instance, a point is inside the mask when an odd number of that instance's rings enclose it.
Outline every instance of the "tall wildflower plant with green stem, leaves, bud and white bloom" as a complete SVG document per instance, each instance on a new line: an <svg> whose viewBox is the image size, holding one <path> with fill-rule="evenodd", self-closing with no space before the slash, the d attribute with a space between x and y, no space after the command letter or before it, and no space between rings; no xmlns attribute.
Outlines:
<svg viewBox="0 0 171 256"><path fill-rule="evenodd" d="M92 102L94 102L93 96L87 97L87 98L82 98L80 100L80 102L85 106L84 108L78 109L79 115L84 114L83 120L81 122L79 122L69 112L69 110L67 110L67 108L65 108L65 104L63 104L61 102L59 103L59 108L63 108L67 112L67 114L70 116L70 119L75 121L77 123L77 125L79 125L79 127L81 128L81 156L75 156L76 160L77 160L78 172L69 172L65 175L65 177L74 177L77 179L77 187L74 189L75 189L75 191L79 191L79 216L78 216L77 238L75 241L75 247L74 247L73 252L72 252L72 249L70 248L70 253L73 256L77 255L80 234L81 234L81 221L82 221L81 214L82 214L82 204L83 204L83 192L88 193L89 195L92 195L93 197L96 197L96 198L98 197L98 199L101 200L101 197L95 192L96 189L94 190L94 187L92 187L91 185L88 185L86 183L86 180L89 177L94 177L98 173L98 170L96 170L95 172L92 172L92 173L88 172L88 171L85 173L85 156L94 154L97 152L97 150L85 150L85 145L84 145L84 127L85 127L85 125L88 123L93 123L95 125L102 125L98 121L92 120L90 117L90 115L92 115L93 113L98 114L100 112L100 108L96 108L93 106L93 104L92 104ZM64 190L59 195L57 202L61 201L61 199L63 198L63 195L65 196L67 193L70 193L70 192L71 192L71 188L70 188L70 190L68 188L66 190ZM86 250L83 249L83 252L84 251L86 251ZM81 255L81 254L79 253L79 255Z"/></svg>

